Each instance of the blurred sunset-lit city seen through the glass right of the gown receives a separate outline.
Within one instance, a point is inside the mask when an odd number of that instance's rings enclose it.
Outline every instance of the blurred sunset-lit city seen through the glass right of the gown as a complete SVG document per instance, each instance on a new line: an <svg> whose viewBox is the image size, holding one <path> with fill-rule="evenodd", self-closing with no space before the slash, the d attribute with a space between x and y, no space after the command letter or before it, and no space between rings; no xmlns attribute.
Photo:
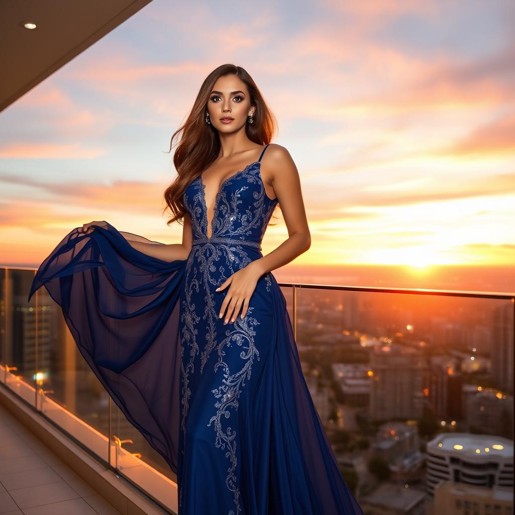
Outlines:
<svg viewBox="0 0 515 515"><path fill-rule="evenodd" d="M297 304L299 352L362 506L510 513L513 306L330 294L302 292L310 301Z"/></svg>

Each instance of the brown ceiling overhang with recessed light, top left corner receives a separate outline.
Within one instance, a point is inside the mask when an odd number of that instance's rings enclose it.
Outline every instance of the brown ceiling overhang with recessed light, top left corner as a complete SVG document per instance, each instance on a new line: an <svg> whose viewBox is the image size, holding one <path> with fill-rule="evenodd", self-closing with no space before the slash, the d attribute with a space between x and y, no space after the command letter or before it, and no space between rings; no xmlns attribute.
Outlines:
<svg viewBox="0 0 515 515"><path fill-rule="evenodd" d="M0 111L151 0L24 0L0 7ZM29 30L23 24L34 22Z"/></svg>

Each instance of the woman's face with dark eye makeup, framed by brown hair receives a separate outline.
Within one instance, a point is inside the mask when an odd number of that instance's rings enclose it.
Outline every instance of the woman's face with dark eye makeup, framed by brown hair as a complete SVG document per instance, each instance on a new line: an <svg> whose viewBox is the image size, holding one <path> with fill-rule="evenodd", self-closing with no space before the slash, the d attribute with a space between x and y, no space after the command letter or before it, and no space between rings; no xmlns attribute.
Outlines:
<svg viewBox="0 0 515 515"><path fill-rule="evenodd" d="M253 112L245 82L236 75L219 77L208 100L209 120L213 127L220 132L237 131L245 126L247 117ZM224 117L232 120L226 122Z"/></svg>

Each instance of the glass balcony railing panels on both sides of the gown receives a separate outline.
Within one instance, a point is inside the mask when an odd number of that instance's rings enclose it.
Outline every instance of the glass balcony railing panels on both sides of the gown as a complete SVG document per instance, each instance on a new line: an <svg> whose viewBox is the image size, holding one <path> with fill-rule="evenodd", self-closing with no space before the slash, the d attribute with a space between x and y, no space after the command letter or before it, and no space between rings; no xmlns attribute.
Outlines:
<svg viewBox="0 0 515 515"><path fill-rule="evenodd" d="M60 307L44 288L26 303L35 272L0 268L0 383L177 512L175 475L110 401ZM366 513L512 514L514 295L280 285L313 401Z"/></svg>

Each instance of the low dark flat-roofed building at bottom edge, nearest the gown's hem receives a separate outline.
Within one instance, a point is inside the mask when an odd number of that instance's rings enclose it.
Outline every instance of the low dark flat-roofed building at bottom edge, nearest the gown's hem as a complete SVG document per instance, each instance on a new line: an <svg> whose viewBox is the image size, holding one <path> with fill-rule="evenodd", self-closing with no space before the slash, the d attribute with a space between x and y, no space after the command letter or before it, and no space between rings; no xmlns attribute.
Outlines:
<svg viewBox="0 0 515 515"><path fill-rule="evenodd" d="M359 501L363 512L373 515L423 515L425 494L404 485L383 483Z"/></svg>

